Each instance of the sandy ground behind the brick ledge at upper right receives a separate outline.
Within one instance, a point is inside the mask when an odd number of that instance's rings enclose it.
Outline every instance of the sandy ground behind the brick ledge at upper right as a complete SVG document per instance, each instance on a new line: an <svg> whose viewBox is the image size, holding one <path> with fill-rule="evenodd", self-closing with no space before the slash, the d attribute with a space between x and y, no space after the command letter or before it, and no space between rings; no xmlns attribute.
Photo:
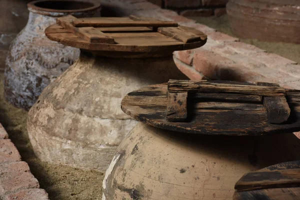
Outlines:
<svg viewBox="0 0 300 200"><path fill-rule="evenodd" d="M219 17L189 17L196 20L198 23L205 24L209 27L216 29L217 31L226 33L231 36L235 36L229 26L227 15ZM267 52L276 53L293 61L300 63L300 45L294 43L284 42L266 42L258 41L257 39L240 39L240 41L255 45L261 49L265 49Z"/></svg>

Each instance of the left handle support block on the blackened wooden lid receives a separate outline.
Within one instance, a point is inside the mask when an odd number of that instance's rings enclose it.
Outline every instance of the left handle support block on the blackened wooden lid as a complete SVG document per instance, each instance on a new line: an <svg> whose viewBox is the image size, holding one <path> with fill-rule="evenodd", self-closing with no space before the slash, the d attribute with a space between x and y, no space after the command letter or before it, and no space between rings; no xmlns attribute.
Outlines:
<svg viewBox="0 0 300 200"><path fill-rule="evenodd" d="M185 121L187 119L187 92L168 92L166 108L167 121Z"/></svg>

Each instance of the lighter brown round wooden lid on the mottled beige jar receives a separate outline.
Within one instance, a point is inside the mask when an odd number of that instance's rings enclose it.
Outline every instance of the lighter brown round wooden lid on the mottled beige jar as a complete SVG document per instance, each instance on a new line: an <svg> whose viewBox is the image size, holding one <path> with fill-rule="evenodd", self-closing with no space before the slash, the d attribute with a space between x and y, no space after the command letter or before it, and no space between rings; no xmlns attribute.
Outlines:
<svg viewBox="0 0 300 200"><path fill-rule="evenodd" d="M51 40L64 45L101 51L159 52L202 46L206 35L176 22L148 17L59 17L46 28Z"/></svg>

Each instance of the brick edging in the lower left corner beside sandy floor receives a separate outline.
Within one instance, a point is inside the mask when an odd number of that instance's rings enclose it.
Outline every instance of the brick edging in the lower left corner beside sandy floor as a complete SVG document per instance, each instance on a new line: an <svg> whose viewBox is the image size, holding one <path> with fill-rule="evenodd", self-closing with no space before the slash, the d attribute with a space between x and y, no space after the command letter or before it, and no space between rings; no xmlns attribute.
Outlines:
<svg viewBox="0 0 300 200"><path fill-rule="evenodd" d="M26 162L0 124L0 199L48 200Z"/></svg>

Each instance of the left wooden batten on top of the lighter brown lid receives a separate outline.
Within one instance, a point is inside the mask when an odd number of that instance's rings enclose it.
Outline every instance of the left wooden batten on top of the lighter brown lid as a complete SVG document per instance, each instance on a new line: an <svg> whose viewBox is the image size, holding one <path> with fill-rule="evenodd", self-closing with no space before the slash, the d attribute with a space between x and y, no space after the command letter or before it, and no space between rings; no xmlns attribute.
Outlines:
<svg viewBox="0 0 300 200"><path fill-rule="evenodd" d="M78 20L72 15L67 15L59 17L56 19L56 22L62 27L66 28L75 35L83 38L84 40L91 43L114 43L114 39L110 36L105 35L105 33L100 30L95 29L94 27L74 27L72 25L73 21Z"/></svg>

